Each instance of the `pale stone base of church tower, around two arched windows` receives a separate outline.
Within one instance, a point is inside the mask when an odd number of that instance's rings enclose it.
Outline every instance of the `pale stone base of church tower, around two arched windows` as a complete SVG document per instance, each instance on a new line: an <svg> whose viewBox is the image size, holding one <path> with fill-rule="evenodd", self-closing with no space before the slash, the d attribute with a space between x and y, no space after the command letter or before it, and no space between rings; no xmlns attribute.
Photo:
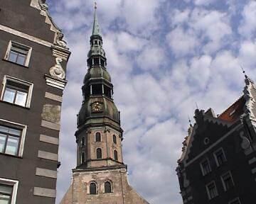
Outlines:
<svg viewBox="0 0 256 204"><path fill-rule="evenodd" d="M105 182L112 192L105 193ZM97 183L97 193L90 194L90 183ZM73 181L60 204L149 204L127 181L127 166L73 169Z"/></svg>

